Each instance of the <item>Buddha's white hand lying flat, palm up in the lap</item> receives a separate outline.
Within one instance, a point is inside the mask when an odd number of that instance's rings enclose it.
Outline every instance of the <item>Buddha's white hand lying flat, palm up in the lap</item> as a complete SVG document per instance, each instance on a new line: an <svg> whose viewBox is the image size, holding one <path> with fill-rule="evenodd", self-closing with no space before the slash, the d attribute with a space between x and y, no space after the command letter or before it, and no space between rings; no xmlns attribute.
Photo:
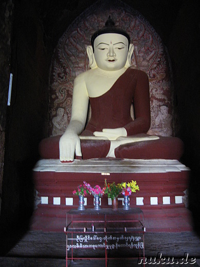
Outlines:
<svg viewBox="0 0 200 267"><path fill-rule="evenodd" d="M124 127L115 129L103 129L102 131L94 131L96 137L107 137L108 140L116 140L118 137L126 137L127 131Z"/></svg>

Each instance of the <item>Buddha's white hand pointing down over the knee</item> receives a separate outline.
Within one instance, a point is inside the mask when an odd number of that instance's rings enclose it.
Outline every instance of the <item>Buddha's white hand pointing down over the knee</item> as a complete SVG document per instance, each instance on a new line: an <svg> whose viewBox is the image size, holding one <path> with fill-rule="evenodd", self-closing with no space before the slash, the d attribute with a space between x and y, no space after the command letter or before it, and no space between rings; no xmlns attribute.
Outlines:
<svg viewBox="0 0 200 267"><path fill-rule="evenodd" d="M74 133L64 133L59 140L59 159L62 162L70 162L74 160L74 154L82 157L81 141Z"/></svg>

